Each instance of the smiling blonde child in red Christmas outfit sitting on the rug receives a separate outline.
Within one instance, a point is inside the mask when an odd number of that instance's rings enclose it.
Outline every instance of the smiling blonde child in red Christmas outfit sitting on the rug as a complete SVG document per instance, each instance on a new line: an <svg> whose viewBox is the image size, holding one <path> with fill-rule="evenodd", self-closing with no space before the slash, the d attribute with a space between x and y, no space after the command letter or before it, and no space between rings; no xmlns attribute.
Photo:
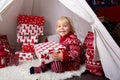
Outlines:
<svg viewBox="0 0 120 80"><path fill-rule="evenodd" d="M41 73L48 69L61 73L78 70L80 67L81 41L75 35L73 23L70 18L62 16L56 23L56 32L60 35L60 43L66 47L65 51L54 53L54 61L39 67L31 67L30 73Z"/></svg>

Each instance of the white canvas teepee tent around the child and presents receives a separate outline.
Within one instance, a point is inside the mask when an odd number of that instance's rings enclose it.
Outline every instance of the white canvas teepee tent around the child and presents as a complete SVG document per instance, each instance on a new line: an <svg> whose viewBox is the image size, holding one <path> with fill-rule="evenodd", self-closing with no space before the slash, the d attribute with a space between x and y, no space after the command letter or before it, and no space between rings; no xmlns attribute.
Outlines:
<svg viewBox="0 0 120 80"><path fill-rule="evenodd" d="M44 16L44 35L55 34L55 22L62 15L72 18L77 36L82 41L88 31L93 31L94 47L98 50L105 76L110 80L120 79L120 48L85 0L14 0L0 14L0 34L8 36L12 47L16 45L19 14Z"/></svg>

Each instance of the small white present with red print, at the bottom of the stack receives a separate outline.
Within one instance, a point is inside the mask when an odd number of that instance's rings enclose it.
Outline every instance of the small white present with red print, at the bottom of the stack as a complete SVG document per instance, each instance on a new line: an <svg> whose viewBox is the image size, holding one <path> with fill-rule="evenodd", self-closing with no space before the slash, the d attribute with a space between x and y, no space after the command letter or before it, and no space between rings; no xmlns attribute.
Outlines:
<svg viewBox="0 0 120 80"><path fill-rule="evenodd" d="M24 53L24 52L15 52L15 54L19 55L19 60L20 61L29 61L33 60L33 54L32 53Z"/></svg>

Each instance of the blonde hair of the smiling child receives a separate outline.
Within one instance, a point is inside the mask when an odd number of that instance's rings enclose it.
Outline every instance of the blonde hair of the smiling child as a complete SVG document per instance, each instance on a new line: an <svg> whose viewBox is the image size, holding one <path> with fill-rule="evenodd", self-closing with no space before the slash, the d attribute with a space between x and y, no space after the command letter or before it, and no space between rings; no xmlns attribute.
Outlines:
<svg viewBox="0 0 120 80"><path fill-rule="evenodd" d="M57 23L58 23L59 20L65 20L65 21L69 24L70 29L71 29L71 32L72 32L72 33L75 33L75 29L74 29L74 27L73 27L73 21L72 21L69 17L61 16L61 17L57 20L56 26L57 26Z"/></svg>

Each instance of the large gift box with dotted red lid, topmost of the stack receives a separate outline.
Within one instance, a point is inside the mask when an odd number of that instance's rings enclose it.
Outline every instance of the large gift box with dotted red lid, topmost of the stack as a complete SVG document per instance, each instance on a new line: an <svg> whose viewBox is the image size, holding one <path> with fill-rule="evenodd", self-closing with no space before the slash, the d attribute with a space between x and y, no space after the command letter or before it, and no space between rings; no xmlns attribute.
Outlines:
<svg viewBox="0 0 120 80"><path fill-rule="evenodd" d="M44 17L19 15L17 26L17 42L38 43L39 35L43 35Z"/></svg>

